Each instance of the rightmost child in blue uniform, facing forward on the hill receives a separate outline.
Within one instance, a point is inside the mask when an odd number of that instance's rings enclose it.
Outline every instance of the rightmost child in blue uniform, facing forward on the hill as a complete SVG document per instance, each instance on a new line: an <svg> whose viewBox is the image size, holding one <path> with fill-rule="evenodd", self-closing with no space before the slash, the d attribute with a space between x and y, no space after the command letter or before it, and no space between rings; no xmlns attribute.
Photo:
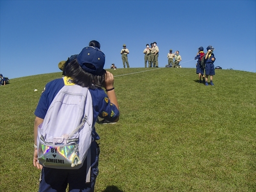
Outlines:
<svg viewBox="0 0 256 192"><path fill-rule="evenodd" d="M208 84L208 76L210 76L210 85L214 85L212 83L212 77L215 75L215 68L214 68L214 61L215 61L215 56L213 54L214 48L209 45L207 47L207 53L205 55L205 85Z"/></svg>

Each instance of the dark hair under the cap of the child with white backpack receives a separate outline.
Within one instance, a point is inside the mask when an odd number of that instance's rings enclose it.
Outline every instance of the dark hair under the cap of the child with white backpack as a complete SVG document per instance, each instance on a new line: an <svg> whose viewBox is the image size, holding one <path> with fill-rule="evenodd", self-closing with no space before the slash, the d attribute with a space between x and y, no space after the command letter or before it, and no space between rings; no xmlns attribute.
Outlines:
<svg viewBox="0 0 256 192"><path fill-rule="evenodd" d="M85 64L86 67L92 68L92 64ZM105 82L105 70L100 75L93 75L82 69L77 59L74 59L66 66L65 76L73 79L73 83L80 85L81 87L88 87L91 89L102 88Z"/></svg>

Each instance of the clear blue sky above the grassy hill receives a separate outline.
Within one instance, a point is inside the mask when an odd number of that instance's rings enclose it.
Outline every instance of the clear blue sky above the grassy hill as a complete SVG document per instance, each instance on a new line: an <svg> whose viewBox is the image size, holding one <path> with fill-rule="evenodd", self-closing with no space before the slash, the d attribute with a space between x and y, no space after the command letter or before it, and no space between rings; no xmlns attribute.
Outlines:
<svg viewBox="0 0 256 192"><path fill-rule="evenodd" d="M154 41L159 66L169 49L182 67L195 68L198 47L212 45L215 66L256 72L256 1L12 1L0 0L0 73L9 78L60 72L58 62L91 40L106 55L105 68L144 67Z"/></svg>

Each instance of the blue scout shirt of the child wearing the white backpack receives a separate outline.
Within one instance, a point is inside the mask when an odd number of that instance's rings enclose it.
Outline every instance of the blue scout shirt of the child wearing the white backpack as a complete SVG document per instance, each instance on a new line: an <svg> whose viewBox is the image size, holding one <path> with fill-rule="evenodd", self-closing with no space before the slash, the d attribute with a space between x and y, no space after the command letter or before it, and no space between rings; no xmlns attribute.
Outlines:
<svg viewBox="0 0 256 192"><path fill-rule="evenodd" d="M55 79L46 84L35 110L35 116L44 119L52 100L63 86L63 79ZM93 124L96 123L98 116L111 122L114 121L119 116L119 111L115 105L109 102L105 91L98 88L89 89L89 91L93 100ZM95 129L93 129L93 138L99 140Z"/></svg>

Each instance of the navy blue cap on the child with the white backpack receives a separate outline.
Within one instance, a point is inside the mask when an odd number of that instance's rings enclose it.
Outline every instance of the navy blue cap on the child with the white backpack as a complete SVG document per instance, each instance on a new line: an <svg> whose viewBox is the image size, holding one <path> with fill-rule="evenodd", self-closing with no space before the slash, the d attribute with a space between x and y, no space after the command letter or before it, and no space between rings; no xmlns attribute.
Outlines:
<svg viewBox="0 0 256 192"><path fill-rule="evenodd" d="M97 47L84 47L79 55L77 55L77 61L83 70L94 75L99 75L104 71L105 54ZM92 64L96 69L86 67L86 63Z"/></svg>

